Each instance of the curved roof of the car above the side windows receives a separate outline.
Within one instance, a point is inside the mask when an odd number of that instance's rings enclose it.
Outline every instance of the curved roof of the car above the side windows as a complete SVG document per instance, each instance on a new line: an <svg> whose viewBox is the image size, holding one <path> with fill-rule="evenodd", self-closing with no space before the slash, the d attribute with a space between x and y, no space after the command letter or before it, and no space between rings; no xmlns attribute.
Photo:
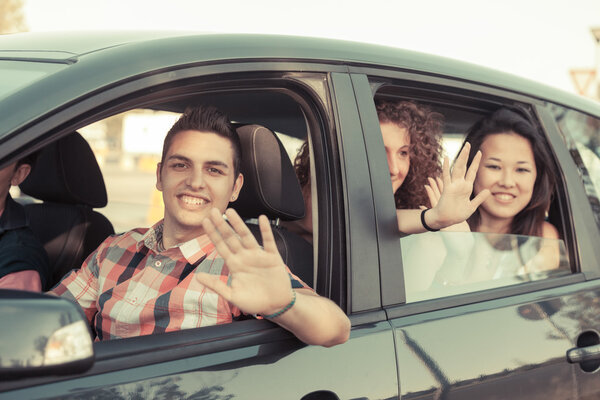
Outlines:
<svg viewBox="0 0 600 400"><path fill-rule="evenodd" d="M39 87L37 93L50 87L60 87L59 92L62 92L69 79L77 79L80 85L85 86L88 83L82 80L83 77L90 82L82 90L91 92L134 75L170 67L215 61L293 60L391 68L448 77L510 90L594 114L599 110L596 102L489 68L382 45L312 37L187 31L22 33L0 36L0 60L75 64L72 67L76 68L68 68L70 71L48 75L40 80L41 83L32 84ZM47 81L46 84L43 81ZM52 85L48 81L52 81ZM28 97L31 98L34 93L35 89ZM67 100L74 93L65 92L62 98L57 93L56 98L48 99L48 102ZM27 104L25 98L15 100L14 107L9 107L10 96L2 100L7 115L1 117L11 119L9 108L16 110L17 106ZM47 106L40 104L40 110ZM7 127L10 131L10 124Z"/></svg>

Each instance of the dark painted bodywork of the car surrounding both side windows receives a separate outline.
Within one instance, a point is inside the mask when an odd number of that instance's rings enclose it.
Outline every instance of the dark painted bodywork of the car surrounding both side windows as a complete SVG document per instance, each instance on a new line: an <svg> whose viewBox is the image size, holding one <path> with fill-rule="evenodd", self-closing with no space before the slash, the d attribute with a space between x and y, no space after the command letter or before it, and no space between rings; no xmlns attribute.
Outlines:
<svg viewBox="0 0 600 400"><path fill-rule="evenodd" d="M11 35L0 38L0 60L63 64L0 99L2 164L131 108L162 101L181 111L194 95L216 93L217 102L226 102L219 96L244 90L289 95L305 117L293 130L314 135L315 163L325 175L318 182L325 237L317 243L317 290L349 314L353 327L347 343L330 349L306 346L262 320L96 343L89 371L5 380L0 399L600 395L598 369L567 360L569 350L593 345L588 339L600 332L600 236L580 171L547 109L552 101L600 116L597 104L453 60L314 38ZM450 106L461 99L472 115L504 103L535 111L559 165L557 201L567 214L562 228L572 275L406 303L403 249L373 102L386 84L427 93L425 100L439 95ZM285 129L285 122L274 123Z"/></svg>

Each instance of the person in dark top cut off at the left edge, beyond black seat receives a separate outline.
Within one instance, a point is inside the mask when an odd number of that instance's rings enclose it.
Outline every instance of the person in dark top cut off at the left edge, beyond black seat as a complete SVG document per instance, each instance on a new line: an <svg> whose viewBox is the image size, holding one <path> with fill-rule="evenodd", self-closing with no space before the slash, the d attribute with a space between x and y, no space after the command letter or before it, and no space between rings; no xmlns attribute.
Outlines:
<svg viewBox="0 0 600 400"><path fill-rule="evenodd" d="M0 288L39 292L50 283L50 262L10 187L27 178L36 154L0 169Z"/></svg>

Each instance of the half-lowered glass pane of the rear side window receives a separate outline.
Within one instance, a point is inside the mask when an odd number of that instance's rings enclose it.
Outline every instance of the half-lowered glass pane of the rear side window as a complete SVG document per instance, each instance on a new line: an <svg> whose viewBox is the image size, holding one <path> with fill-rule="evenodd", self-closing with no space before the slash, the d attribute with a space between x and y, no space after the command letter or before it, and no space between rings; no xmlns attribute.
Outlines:
<svg viewBox="0 0 600 400"><path fill-rule="evenodd" d="M400 239L406 301L414 302L570 274L562 240L477 232Z"/></svg>

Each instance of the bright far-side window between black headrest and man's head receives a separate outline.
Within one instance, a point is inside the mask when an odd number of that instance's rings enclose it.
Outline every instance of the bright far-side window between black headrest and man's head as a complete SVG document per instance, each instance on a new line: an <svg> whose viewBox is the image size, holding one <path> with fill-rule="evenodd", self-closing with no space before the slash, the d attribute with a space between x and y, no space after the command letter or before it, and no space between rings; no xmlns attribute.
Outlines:
<svg viewBox="0 0 600 400"><path fill-rule="evenodd" d="M101 210L115 232L151 226L162 218L156 164L179 113L134 109L79 129L102 171L108 204Z"/></svg>

